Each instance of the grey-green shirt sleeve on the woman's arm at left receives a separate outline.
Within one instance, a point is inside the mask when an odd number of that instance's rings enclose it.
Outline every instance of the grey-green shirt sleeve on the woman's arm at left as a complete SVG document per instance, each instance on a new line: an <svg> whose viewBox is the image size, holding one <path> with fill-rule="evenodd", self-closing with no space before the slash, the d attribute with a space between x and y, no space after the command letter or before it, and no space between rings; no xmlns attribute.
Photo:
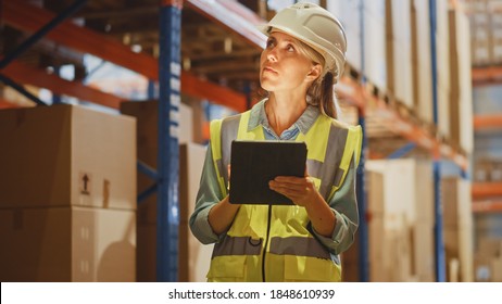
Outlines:
<svg viewBox="0 0 502 304"><path fill-rule="evenodd" d="M209 212L223 199L217 182L210 143L205 153L196 207L189 220L191 232L203 244L215 243L219 239L209 224Z"/></svg>

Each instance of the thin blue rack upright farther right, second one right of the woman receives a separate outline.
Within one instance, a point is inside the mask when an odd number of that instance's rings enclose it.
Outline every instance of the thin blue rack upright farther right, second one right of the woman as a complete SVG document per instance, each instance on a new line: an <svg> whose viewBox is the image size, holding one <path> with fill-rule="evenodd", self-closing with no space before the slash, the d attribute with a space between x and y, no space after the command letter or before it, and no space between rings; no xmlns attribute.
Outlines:
<svg viewBox="0 0 502 304"><path fill-rule="evenodd" d="M437 28L437 12L436 1L429 0L429 17L430 17L430 54L431 54L431 80L432 80L432 116L434 124L438 125L438 62L436 54L436 28ZM435 197L435 257L436 257L436 280L444 282L447 279L444 243L442 236L442 204L441 204L441 163L439 155L434 155L434 197Z"/></svg>

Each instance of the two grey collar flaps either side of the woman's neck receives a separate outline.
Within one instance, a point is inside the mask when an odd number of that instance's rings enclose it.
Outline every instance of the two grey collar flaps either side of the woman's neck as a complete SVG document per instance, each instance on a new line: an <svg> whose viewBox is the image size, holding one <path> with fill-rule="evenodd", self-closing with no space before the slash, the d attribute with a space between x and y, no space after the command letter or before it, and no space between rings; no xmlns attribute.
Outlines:
<svg viewBox="0 0 502 304"><path fill-rule="evenodd" d="M268 99L265 98L258 102L252 109L249 117L248 131L252 131L259 126L269 127L268 119L265 113L265 102ZM319 110L316 106L309 104L303 114L298 118L293 126L298 127L302 134L306 134L315 119L319 115Z"/></svg>

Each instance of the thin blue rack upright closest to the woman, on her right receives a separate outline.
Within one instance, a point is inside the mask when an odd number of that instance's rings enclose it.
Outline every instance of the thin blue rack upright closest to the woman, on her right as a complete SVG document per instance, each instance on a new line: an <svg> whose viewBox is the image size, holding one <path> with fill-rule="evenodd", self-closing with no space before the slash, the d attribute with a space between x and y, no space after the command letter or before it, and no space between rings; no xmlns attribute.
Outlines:
<svg viewBox="0 0 502 304"><path fill-rule="evenodd" d="M364 86L366 83L365 75L365 61L364 61L364 0L360 0L360 27L361 27L361 81ZM359 124L363 129L363 143L361 148L361 159L359 163L359 168L356 169L356 197L357 197L357 207L359 207L359 278L362 282L369 281L369 245L368 245L368 227L367 227L367 206L366 206L366 188L365 188L365 163L366 163L366 150L367 150L367 139L366 139L366 122L365 122L365 112L364 110L359 111Z"/></svg>

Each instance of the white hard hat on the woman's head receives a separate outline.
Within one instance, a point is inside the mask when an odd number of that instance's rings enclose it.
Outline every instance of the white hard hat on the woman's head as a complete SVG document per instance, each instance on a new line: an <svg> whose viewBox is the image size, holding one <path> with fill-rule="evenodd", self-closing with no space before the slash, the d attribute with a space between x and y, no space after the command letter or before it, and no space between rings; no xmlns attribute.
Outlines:
<svg viewBox="0 0 502 304"><path fill-rule="evenodd" d="M269 35L272 28L284 31L319 52L325 68L338 81L346 63L347 38L341 23L328 11L314 3L300 2L279 11L259 29Z"/></svg>

